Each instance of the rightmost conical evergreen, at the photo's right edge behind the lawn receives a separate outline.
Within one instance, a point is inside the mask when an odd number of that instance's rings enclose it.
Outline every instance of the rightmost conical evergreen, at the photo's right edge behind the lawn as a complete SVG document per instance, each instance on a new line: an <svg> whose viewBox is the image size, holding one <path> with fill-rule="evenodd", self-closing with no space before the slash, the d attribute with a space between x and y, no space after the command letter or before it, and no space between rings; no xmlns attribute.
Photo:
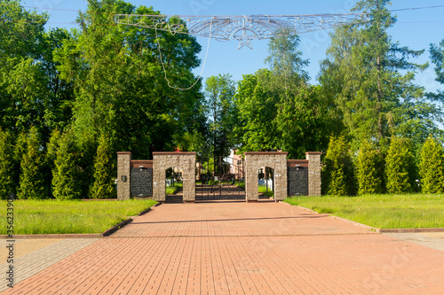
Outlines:
<svg viewBox="0 0 444 295"><path fill-rule="evenodd" d="M429 136L421 149L419 176L424 193L444 191L444 150L432 136Z"/></svg>

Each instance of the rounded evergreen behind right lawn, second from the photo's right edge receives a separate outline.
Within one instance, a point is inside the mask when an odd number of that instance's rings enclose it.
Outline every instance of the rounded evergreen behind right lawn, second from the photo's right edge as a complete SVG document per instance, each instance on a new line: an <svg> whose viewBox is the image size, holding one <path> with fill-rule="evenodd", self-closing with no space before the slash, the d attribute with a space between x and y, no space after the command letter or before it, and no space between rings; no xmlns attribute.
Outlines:
<svg viewBox="0 0 444 295"><path fill-rule="evenodd" d="M416 190L415 157L409 139L392 137L385 158L385 177L389 193L408 193Z"/></svg>

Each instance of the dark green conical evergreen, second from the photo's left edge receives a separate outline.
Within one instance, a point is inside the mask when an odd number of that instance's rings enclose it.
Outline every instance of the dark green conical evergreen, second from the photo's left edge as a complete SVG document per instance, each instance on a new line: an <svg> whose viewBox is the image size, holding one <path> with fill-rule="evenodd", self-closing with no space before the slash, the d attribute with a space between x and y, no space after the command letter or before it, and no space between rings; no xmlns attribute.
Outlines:
<svg viewBox="0 0 444 295"><path fill-rule="evenodd" d="M27 150L20 163L20 188L18 198L48 198L45 185L44 155L37 128L32 127L26 140Z"/></svg>

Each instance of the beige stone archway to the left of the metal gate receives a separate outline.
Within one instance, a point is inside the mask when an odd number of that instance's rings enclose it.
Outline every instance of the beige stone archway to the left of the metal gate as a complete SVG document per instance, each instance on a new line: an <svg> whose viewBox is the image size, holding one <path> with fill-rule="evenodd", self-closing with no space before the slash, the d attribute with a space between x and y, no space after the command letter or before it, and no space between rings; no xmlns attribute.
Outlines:
<svg viewBox="0 0 444 295"><path fill-rule="evenodd" d="M195 152L153 152L153 199L165 201L166 170L179 167L183 171L184 202L195 199Z"/></svg>

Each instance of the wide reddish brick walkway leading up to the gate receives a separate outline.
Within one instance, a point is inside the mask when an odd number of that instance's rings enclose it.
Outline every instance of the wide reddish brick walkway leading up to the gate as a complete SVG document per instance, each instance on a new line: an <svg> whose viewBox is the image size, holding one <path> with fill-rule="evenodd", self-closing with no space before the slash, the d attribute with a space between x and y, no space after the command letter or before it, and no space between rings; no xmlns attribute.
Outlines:
<svg viewBox="0 0 444 295"><path fill-rule="evenodd" d="M444 252L284 204L168 204L2 294L442 294Z"/></svg>

